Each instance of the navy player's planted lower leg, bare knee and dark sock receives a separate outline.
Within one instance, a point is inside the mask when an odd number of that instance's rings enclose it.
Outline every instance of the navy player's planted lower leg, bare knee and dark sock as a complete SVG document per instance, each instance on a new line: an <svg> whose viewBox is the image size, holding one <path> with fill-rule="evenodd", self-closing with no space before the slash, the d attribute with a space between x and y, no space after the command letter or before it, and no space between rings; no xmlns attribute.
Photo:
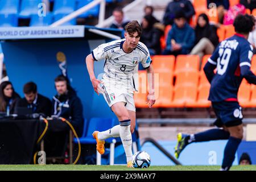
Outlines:
<svg viewBox="0 0 256 182"><path fill-rule="evenodd" d="M235 155L239 144L243 138L243 126L233 126L227 127L230 133L230 137L228 143L226 143L226 147L224 150L224 158L222 161L221 170L228 171L234 162Z"/></svg>

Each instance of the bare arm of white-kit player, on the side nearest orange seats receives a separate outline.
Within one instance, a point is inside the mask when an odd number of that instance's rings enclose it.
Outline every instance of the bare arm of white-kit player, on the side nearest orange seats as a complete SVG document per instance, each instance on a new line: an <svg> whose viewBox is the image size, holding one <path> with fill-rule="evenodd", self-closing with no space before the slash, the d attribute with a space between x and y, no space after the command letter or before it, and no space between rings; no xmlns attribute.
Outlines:
<svg viewBox="0 0 256 182"><path fill-rule="evenodd" d="M155 104L155 82L154 82L154 68L152 64L147 70L147 78L149 84L149 91L147 96L147 104L151 108Z"/></svg>

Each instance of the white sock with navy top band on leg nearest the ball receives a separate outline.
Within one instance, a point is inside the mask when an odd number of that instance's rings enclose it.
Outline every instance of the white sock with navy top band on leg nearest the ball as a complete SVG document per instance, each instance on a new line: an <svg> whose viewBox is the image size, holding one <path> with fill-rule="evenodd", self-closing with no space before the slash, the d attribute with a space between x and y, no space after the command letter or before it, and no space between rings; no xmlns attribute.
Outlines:
<svg viewBox="0 0 256 182"><path fill-rule="evenodd" d="M133 141L131 140L131 121L126 120L120 122L120 137L123 143L123 148L125 149L125 155L127 162L133 160L133 151L131 150L131 144Z"/></svg>

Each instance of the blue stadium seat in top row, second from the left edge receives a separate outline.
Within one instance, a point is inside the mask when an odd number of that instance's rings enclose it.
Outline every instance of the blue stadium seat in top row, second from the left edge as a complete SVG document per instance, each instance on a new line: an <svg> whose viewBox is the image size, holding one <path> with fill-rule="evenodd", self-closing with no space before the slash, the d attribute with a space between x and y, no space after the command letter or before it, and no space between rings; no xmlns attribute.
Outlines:
<svg viewBox="0 0 256 182"><path fill-rule="evenodd" d="M39 3L42 3L42 0L22 0L19 18L30 18L31 15L37 15Z"/></svg>

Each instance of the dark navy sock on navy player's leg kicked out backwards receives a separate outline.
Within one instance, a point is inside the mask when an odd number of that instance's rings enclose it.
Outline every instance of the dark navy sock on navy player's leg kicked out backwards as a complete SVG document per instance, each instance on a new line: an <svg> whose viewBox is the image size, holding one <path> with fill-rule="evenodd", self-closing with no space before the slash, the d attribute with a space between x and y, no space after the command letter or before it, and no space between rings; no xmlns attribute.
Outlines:
<svg viewBox="0 0 256 182"><path fill-rule="evenodd" d="M207 142L210 140L225 140L229 139L229 132L222 129L211 129L197 133L195 135L188 135L186 138L188 143L192 142Z"/></svg>

